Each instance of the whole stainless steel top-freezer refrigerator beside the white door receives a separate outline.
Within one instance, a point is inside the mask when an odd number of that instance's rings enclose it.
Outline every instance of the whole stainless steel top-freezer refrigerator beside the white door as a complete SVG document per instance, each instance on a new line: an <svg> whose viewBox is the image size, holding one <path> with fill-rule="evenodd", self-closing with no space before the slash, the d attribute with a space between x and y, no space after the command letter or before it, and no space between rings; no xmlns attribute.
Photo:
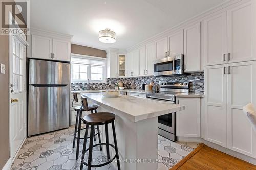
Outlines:
<svg viewBox="0 0 256 170"><path fill-rule="evenodd" d="M69 127L70 64L29 59L28 136Z"/></svg>

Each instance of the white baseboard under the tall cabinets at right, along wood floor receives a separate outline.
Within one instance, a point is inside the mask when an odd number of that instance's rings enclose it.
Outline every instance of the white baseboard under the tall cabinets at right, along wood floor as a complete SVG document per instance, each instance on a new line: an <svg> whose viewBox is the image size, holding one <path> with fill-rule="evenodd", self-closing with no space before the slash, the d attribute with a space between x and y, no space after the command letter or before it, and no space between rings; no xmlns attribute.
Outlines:
<svg viewBox="0 0 256 170"><path fill-rule="evenodd" d="M256 165L256 159L255 158L252 158L250 156L247 156L247 155L244 155L244 154L241 154L239 152L236 152L236 151L233 151L233 150L230 150L228 148L225 148L225 147L221 147L220 145L218 144L215 144L215 143L211 143L209 141L206 141L202 138L198 138L198 137L178 137L178 141L183 141L183 142L196 142L196 143L204 143L205 145L207 145L208 147L211 147L211 148L214 148L218 151L221 151L221 152L224 152L228 155L231 155L233 157L236 157L238 159L241 159L241 160L244 160L246 162L249 162L253 165Z"/></svg>

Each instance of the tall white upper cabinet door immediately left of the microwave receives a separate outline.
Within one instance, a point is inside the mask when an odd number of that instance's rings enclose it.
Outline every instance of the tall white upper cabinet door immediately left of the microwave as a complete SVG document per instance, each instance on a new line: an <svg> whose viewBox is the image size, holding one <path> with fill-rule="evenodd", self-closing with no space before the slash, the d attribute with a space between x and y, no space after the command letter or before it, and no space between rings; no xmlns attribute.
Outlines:
<svg viewBox="0 0 256 170"><path fill-rule="evenodd" d="M154 75L155 43L146 44L146 74Z"/></svg>

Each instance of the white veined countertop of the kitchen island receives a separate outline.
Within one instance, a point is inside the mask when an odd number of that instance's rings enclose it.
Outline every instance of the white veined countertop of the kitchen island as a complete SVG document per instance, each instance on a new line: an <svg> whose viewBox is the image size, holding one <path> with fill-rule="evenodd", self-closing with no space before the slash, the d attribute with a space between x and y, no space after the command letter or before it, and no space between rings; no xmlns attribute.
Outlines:
<svg viewBox="0 0 256 170"><path fill-rule="evenodd" d="M184 110L184 105L172 104L150 99L119 95L116 98L105 98L101 93L81 93L93 103L121 114L132 122Z"/></svg>

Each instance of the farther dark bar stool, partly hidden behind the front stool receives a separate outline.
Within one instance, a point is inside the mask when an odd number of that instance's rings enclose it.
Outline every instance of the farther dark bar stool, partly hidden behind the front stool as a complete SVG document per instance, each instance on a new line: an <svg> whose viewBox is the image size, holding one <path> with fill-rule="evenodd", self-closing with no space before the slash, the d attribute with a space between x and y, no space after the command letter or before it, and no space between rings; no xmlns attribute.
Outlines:
<svg viewBox="0 0 256 170"><path fill-rule="evenodd" d="M78 102L77 93L73 92L73 98L74 99L72 101L72 107L73 107L74 101ZM86 98L82 98L82 105L81 106L77 106L77 107L74 108L74 110L77 111L77 114L76 114L76 124L75 124L75 130L74 130L74 139L73 139L73 148L75 147L75 142L76 142L76 139L77 139L77 144L76 144L76 160L79 157L80 139L84 139L84 138L80 137L81 130L86 129L86 128L82 128L81 129L82 112L83 111L91 111L91 113L93 113L93 111L94 111L95 113L97 113L97 108L98 108L97 105L88 105L88 102L87 102ZM78 126L78 129L77 129L77 126ZM76 134L77 134L77 136L76 136ZM98 135L99 143L101 143L99 127L98 126L97 126L97 134L95 134L95 130L94 129L93 129L93 134L94 134L94 141L96 141L96 135ZM102 151L102 147L100 147L100 150Z"/></svg>

